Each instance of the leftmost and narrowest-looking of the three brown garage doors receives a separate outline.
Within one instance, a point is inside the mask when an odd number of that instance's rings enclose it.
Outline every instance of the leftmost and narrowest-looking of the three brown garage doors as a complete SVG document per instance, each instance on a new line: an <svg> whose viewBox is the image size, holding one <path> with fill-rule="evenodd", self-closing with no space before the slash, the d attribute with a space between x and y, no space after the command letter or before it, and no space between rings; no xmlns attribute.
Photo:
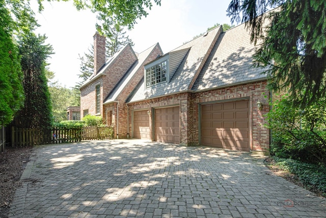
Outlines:
<svg viewBox="0 0 326 218"><path fill-rule="evenodd" d="M133 112L133 137L149 139L149 115L147 110Z"/></svg>

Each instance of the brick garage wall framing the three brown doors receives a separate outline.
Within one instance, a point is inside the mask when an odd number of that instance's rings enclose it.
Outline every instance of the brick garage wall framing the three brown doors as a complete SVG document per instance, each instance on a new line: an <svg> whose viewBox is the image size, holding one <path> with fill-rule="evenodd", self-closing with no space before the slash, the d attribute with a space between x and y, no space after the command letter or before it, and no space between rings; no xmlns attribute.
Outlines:
<svg viewBox="0 0 326 218"><path fill-rule="evenodd" d="M269 111L268 100L270 97L266 85L266 81L255 82L198 93L179 93L142 102L129 103L129 131L131 132L131 113L133 110L152 110L152 108L157 107L180 106L180 144L186 146L199 145L200 104L249 99L250 148L252 151L266 152L269 149L269 130L264 127L267 122L264 115ZM263 104L262 110L257 109L257 101ZM150 120L151 123L152 120Z"/></svg>

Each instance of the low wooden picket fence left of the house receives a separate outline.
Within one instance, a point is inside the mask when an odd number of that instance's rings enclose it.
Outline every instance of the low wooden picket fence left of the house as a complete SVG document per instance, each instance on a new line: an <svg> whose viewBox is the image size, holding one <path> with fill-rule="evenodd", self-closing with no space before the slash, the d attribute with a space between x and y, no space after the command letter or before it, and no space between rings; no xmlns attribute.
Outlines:
<svg viewBox="0 0 326 218"><path fill-rule="evenodd" d="M18 147L113 138L112 127L83 127L82 129L26 129L12 127L11 131L12 146Z"/></svg>

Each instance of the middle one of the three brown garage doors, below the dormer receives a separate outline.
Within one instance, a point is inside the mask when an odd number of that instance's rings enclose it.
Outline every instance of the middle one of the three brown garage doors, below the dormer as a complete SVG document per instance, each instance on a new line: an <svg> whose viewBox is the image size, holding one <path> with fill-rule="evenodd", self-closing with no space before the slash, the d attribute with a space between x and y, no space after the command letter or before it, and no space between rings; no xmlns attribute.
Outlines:
<svg viewBox="0 0 326 218"><path fill-rule="evenodd" d="M155 141L180 143L179 107L155 109Z"/></svg>

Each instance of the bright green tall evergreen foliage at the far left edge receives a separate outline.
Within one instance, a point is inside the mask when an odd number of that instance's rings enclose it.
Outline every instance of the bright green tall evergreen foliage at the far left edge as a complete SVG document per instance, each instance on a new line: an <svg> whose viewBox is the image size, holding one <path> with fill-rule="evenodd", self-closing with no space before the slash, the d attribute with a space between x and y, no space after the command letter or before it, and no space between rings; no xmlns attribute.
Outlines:
<svg viewBox="0 0 326 218"><path fill-rule="evenodd" d="M0 0L0 125L4 126L24 101L18 48L11 37L13 26L5 2Z"/></svg>

